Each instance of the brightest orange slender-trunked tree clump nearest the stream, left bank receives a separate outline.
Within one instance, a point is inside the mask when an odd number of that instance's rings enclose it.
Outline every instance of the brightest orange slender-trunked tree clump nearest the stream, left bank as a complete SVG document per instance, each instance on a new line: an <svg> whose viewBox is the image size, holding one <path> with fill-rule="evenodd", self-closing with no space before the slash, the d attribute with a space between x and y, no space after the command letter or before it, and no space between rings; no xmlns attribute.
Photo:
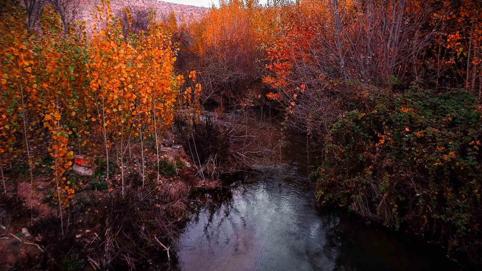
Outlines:
<svg viewBox="0 0 482 271"><path fill-rule="evenodd" d="M124 12L132 20L130 12ZM124 159L130 141L136 136L144 139L148 127L154 137L159 168L161 136L173 122L176 97L184 81L174 74L177 49L159 24L151 22L148 31L124 36L108 1L97 8L96 18L106 27L94 26L89 48L88 77L97 108L96 118L91 121L104 138L107 178L109 149L114 146L117 151L124 193Z"/></svg>

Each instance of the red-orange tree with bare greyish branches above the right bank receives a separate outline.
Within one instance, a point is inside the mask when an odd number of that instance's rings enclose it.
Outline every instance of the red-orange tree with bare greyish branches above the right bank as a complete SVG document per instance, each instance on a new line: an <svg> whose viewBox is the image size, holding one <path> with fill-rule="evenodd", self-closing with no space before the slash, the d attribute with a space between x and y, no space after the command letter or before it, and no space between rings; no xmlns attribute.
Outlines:
<svg viewBox="0 0 482 271"><path fill-rule="evenodd" d="M433 37L423 26L433 9L404 0L305 0L278 8L279 19L259 31L270 33L268 97L292 112L290 127L327 133L342 101L365 91L344 81L385 87L421 74L419 59Z"/></svg>

